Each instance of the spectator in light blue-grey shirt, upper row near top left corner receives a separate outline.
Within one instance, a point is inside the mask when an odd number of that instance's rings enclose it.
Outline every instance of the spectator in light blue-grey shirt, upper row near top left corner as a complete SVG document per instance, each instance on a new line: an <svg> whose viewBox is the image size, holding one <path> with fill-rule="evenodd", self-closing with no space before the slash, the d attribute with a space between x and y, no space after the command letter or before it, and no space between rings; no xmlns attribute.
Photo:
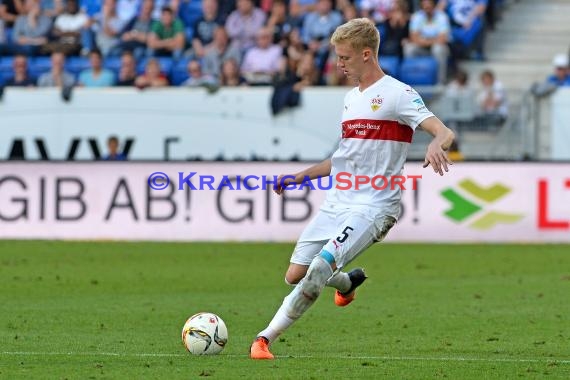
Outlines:
<svg viewBox="0 0 570 380"><path fill-rule="evenodd" d="M18 16L14 24L14 41L17 52L34 56L47 43L51 20L41 14L38 0L25 0L24 6L26 14Z"/></svg>

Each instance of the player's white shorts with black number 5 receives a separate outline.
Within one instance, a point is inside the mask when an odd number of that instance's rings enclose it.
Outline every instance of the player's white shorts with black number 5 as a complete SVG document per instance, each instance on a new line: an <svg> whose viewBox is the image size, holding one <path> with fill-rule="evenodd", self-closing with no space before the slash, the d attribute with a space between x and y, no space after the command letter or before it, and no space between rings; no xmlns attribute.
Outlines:
<svg viewBox="0 0 570 380"><path fill-rule="evenodd" d="M340 269L384 240L394 224L394 217L371 210L319 210L299 237L291 263L309 265L324 249L334 256Z"/></svg>

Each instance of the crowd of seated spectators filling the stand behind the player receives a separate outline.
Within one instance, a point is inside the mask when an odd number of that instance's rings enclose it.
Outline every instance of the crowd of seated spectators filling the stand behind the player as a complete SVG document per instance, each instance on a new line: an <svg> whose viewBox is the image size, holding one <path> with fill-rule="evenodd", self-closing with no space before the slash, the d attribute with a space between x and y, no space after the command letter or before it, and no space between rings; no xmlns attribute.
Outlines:
<svg viewBox="0 0 570 380"><path fill-rule="evenodd" d="M5 84L299 88L345 84L329 37L355 17L376 23L381 64L433 56L446 83L457 61L484 58L498 0L0 1L0 56L14 57Z"/></svg>

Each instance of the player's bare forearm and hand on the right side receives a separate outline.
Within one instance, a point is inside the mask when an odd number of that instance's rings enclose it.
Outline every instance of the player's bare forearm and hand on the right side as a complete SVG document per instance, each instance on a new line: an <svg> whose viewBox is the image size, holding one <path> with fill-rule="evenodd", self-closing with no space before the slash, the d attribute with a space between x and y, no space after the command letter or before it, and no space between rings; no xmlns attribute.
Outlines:
<svg viewBox="0 0 570 380"><path fill-rule="evenodd" d="M424 168L431 165L434 172L443 175L444 170L449 171L447 165L453 165L453 162L447 157L447 150L451 146L455 134L435 116L422 121L420 127L433 136L433 140L427 148Z"/></svg>

